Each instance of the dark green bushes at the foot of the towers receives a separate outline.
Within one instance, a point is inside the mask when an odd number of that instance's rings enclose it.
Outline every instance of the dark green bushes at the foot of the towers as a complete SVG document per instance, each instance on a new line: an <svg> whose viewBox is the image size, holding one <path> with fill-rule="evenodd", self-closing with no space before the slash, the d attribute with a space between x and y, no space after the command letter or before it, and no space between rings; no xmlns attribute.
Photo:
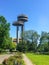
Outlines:
<svg viewBox="0 0 49 65"><path fill-rule="evenodd" d="M16 49L20 52L35 52L35 43L30 43L30 42L20 42L19 44L17 44Z"/></svg>

